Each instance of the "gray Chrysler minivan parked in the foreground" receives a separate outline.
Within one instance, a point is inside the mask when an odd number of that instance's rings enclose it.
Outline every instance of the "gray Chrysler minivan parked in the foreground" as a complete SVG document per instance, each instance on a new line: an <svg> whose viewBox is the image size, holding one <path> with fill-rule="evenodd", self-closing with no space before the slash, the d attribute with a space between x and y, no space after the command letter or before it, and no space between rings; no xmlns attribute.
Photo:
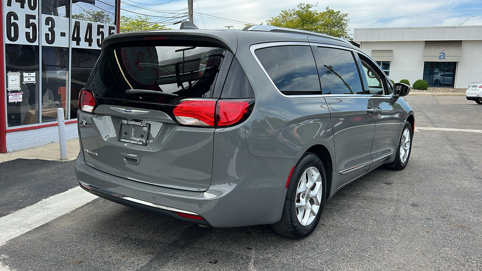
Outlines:
<svg viewBox="0 0 482 271"><path fill-rule="evenodd" d="M318 33L109 36L79 96L77 179L166 217L303 238L338 190L406 166L408 92L359 48Z"/></svg>

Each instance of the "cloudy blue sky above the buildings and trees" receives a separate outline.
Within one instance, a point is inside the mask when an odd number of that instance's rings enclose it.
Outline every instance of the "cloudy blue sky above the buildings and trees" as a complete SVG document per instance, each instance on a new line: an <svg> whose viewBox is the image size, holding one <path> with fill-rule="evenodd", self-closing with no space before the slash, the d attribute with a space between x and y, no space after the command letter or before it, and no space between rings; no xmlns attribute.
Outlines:
<svg viewBox="0 0 482 271"><path fill-rule="evenodd" d="M363 27L458 26L470 16L476 17L470 18L464 26L482 25L481 0L195 0L194 20L200 28L233 26L241 29L244 27L241 22L266 22L281 10L292 9L300 2L318 3L315 8L318 11L330 6L348 13L349 33L353 33L353 28ZM187 12L187 0L122 0L121 8L123 16L136 15L128 10L158 16L152 17L151 21L169 23L179 19L169 17L181 17ZM205 15L201 17L201 14Z"/></svg>

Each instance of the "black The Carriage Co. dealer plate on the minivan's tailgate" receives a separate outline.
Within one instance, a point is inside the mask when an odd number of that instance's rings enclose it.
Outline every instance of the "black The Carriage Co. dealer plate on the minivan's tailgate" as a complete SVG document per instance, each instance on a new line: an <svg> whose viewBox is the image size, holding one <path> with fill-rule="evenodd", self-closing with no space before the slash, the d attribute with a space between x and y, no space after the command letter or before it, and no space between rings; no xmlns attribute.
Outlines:
<svg viewBox="0 0 482 271"><path fill-rule="evenodd" d="M126 143L146 145L149 127L147 122L121 120L118 139Z"/></svg>

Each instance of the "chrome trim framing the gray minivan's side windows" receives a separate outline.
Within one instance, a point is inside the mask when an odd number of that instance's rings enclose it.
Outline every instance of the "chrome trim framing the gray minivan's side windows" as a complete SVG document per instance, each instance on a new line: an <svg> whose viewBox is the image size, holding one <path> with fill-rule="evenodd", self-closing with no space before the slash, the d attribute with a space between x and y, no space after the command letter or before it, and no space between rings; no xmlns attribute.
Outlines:
<svg viewBox="0 0 482 271"><path fill-rule="evenodd" d="M254 60L256 60L256 62L258 63L259 67L263 70L263 72L265 73L266 77L268 77L268 80L271 82L271 84L273 85L273 87L278 91L278 93L285 97L285 98L321 98L321 97L338 97L338 96L341 96L341 97L349 97L349 96L352 96L352 97L391 97L393 96L393 92L392 94L390 95L373 95L373 94L313 94L313 95L284 95L281 93L281 91L278 89L278 87L274 84L273 80L271 80L271 77L269 77L269 74L268 72L266 71L266 69L263 67L263 65L261 64L261 61L259 61L258 57L256 56L256 54L254 53L256 50L258 49L263 49L263 48L268 48L268 47L277 47L277 46L290 46L290 45L299 45L299 46L311 46L311 45L315 45L317 47L327 47L327 48L334 48L334 49L341 49L341 50L346 50L346 51L350 51L352 53L358 53L358 54L362 54L363 56L367 57L368 59L372 60L372 58L367 55L367 54L364 54L362 53L361 51L358 51L358 50L355 50L354 48L349 48L349 47L344 47L344 46L339 46L339 45L333 45L333 44L326 44L326 43L318 43L318 42L300 42L300 41L279 41L279 42L268 42L268 43L258 43L258 44L253 44L249 47L249 50L251 52L251 54L253 55L254 57ZM313 57L313 60L314 57ZM372 60L373 62L373 60ZM377 65L375 63L375 65ZM378 65L377 65L378 67ZM360 69L359 69L359 72ZM390 82L390 80L388 79L387 75L382 72L383 75L385 76L385 79ZM391 83L391 82L390 82ZM392 86L393 88L393 86ZM321 90L323 91L323 90Z"/></svg>

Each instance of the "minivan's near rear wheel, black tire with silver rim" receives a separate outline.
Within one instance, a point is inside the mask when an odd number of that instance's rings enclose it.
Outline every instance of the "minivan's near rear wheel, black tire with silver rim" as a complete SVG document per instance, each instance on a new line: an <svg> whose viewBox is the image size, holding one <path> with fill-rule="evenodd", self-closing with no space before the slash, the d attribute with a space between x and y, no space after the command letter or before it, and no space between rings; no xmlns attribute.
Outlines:
<svg viewBox="0 0 482 271"><path fill-rule="evenodd" d="M311 176L311 180L308 180L308 176ZM313 182L310 188L307 186L308 182ZM303 183L305 186L303 186ZM306 201L304 198L309 192L311 192L309 200ZM295 239L308 236L318 225L325 205L325 196L326 173L323 163L317 155L307 152L295 165L291 175L281 220L271 224L271 228L283 236ZM303 202L306 204L303 205ZM310 207L308 207L308 203ZM312 207L316 207L317 204L318 211L316 212L316 208ZM310 213L307 216L306 210L308 208ZM301 213L300 210L305 211Z"/></svg>

